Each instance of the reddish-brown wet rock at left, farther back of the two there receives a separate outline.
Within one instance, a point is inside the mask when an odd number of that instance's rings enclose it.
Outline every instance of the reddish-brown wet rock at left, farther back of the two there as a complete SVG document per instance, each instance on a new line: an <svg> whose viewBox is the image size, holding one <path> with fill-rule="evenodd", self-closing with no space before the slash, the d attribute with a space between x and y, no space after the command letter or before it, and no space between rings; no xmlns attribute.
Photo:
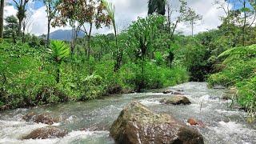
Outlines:
<svg viewBox="0 0 256 144"><path fill-rule="evenodd" d="M26 122L44 123L47 125L53 125L54 122L59 122L59 118L55 118L51 114L35 114L30 112L22 117Z"/></svg>

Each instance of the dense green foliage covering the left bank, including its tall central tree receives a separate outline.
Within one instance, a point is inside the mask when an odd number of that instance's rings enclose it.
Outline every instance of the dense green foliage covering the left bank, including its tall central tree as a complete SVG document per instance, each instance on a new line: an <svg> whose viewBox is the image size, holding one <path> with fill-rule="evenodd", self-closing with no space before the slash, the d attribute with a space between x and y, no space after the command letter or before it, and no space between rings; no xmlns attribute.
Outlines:
<svg viewBox="0 0 256 144"><path fill-rule="evenodd" d="M1 45L0 56L1 105L15 108L80 101L187 82L186 66L179 65L183 58L177 58L170 69L165 58L167 49L158 48L163 46L161 38L164 37L156 30L161 30L162 22L161 16L142 18L118 35L118 46L122 46L123 53L118 71L114 71L116 46L111 34L92 38L89 61L82 39L78 39L77 48L71 55L66 42L54 40L50 48L45 48L40 38L34 45L6 39ZM151 34L151 30L157 33ZM182 54L179 50L176 53Z"/></svg>

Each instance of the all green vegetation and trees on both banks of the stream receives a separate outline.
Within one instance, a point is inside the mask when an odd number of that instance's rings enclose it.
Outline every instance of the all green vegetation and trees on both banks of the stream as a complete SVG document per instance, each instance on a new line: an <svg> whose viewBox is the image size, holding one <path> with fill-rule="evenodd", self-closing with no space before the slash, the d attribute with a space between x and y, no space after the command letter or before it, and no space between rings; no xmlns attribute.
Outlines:
<svg viewBox="0 0 256 144"><path fill-rule="evenodd" d="M194 26L203 15L185 0L178 8L150 0L149 15L123 30L117 28L114 6L105 0L43 2L46 36L26 33L27 1L17 5L25 10L5 18L0 45L2 110L207 81L209 86L235 86L238 103L255 118L254 1L241 1L246 5L235 9L216 1L226 12L221 26L199 34L194 34ZM179 33L181 22L191 27L190 35ZM71 41L50 40L50 25L71 26ZM113 27L113 34L92 34L93 27L105 26ZM84 36L78 37L81 32Z"/></svg>

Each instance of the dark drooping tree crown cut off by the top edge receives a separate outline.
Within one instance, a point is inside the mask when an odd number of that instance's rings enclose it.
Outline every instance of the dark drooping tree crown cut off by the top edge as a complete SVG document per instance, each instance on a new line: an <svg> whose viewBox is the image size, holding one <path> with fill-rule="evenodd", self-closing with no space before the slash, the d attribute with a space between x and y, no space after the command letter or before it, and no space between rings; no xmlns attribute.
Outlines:
<svg viewBox="0 0 256 144"><path fill-rule="evenodd" d="M150 0L148 2L148 14L166 14L166 0Z"/></svg>

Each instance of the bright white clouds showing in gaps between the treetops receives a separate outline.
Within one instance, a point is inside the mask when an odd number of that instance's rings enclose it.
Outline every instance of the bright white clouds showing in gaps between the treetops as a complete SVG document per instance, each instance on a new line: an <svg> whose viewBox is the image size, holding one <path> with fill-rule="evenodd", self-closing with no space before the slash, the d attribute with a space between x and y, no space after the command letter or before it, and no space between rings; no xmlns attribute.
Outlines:
<svg viewBox="0 0 256 144"><path fill-rule="evenodd" d="M173 4L173 6L178 7L178 0L170 0ZM223 0L224 1L224 0ZM110 0L110 2L113 2L115 8L116 8L116 22L118 25L119 31L122 29L125 29L129 24L135 20L137 20L138 17L146 17L147 14L147 2L148 0ZM189 0L189 6L193 7L194 10L198 14L202 14L202 22L198 26L194 27L194 33L211 30L217 28L221 24L219 17L224 13L224 11L217 9L216 6L213 5L214 0ZM33 9L33 3L30 3L30 6L32 6L32 16L31 21L32 24L30 26L30 32L32 34L41 35L46 34L47 32L47 18L46 18L46 7L43 6L39 8L38 10ZM6 16L11 14L16 14L16 10L13 6L6 6ZM57 28L51 28L51 32L54 30L59 29L70 29L70 26L67 26L65 28L63 27L57 27ZM178 30L182 31L184 34L190 34L190 26L188 26L186 23L181 23L178 26ZM110 26L109 28L103 28L100 30L93 29L93 34L96 33L103 33L107 34L112 32L112 28Z"/></svg>

